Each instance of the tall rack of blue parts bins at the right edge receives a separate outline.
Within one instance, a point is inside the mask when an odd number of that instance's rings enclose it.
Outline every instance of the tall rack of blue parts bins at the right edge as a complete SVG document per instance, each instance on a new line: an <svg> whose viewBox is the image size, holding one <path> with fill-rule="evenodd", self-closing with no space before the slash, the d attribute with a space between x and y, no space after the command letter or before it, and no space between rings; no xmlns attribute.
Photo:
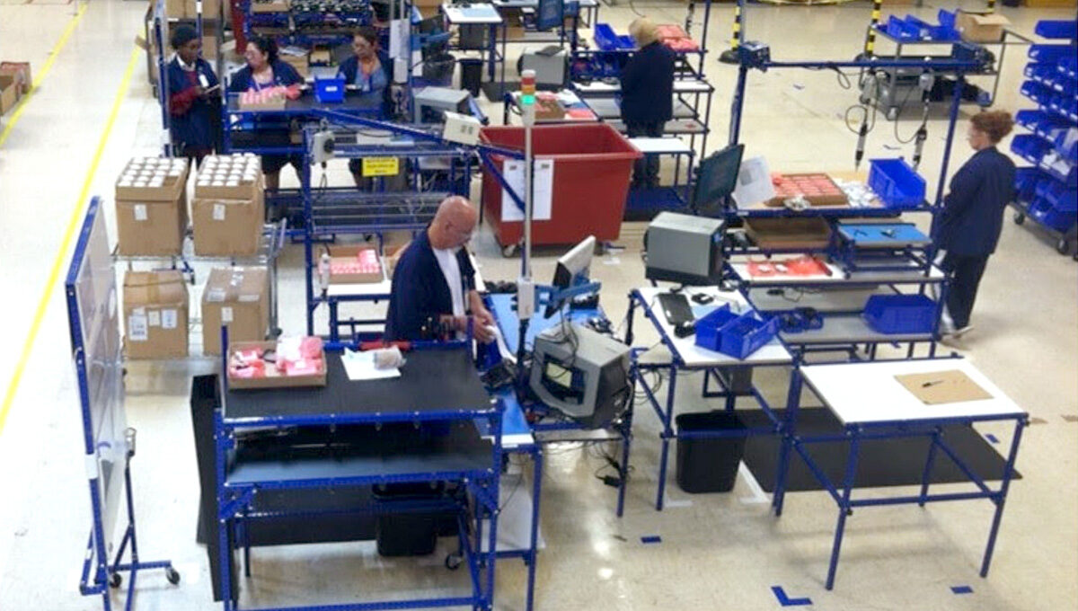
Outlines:
<svg viewBox="0 0 1078 611"><path fill-rule="evenodd" d="M1029 46L1021 93L1036 109L1020 110L1014 121L1028 131L1011 140L1011 151L1032 164L1015 175L1014 222L1033 219L1055 239L1055 250L1070 252L1078 237L1078 24L1041 20L1034 31L1064 44ZM1075 253L1078 259L1078 252Z"/></svg>

